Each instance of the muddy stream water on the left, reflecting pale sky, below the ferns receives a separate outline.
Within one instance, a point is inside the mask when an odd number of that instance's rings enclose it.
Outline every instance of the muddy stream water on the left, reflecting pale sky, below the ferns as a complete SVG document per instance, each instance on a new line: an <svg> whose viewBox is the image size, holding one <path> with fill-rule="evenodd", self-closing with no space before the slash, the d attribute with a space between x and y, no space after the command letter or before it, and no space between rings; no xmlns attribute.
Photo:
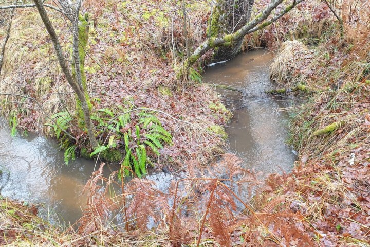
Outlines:
<svg viewBox="0 0 370 247"><path fill-rule="evenodd" d="M79 158L64 164L64 152L44 137L10 135L0 125L0 193L4 197L44 204L42 215L57 213L60 220L74 223L87 202L83 187L95 162ZM104 174L111 173L108 166Z"/></svg>

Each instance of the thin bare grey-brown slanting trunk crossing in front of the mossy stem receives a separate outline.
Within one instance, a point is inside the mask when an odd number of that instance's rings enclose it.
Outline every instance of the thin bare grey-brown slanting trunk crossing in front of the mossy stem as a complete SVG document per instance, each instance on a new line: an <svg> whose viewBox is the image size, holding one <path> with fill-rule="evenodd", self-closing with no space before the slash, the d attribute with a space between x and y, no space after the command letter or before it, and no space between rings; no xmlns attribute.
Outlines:
<svg viewBox="0 0 370 247"><path fill-rule="evenodd" d="M72 89L73 89L73 91L75 91L78 99L81 101L81 108L82 108L82 111L83 111L83 114L84 114L84 120L85 120L86 129L87 129L87 132L88 132L89 141L90 141L91 147L93 147L93 149L96 149L96 148L99 147L99 144L98 144L98 142L95 138L95 129L94 129L93 122L91 121L90 110L89 110L89 107L88 107L88 104L87 104L87 101L86 101L85 92L83 91L83 89L81 89L80 85L73 79L73 77L72 77L72 75L71 75L71 73L70 73L70 71L67 67L67 63L64 59L62 47L59 43L57 33L55 33L54 27L52 26L52 24L50 22L50 19L49 19L47 13L46 13L46 10L45 10L44 5L43 5L43 1L42 0L33 0L33 2L35 3L36 8L39 11L40 17L41 17L41 19L42 19L42 21L43 21L43 23L46 27L46 30L49 33L51 42L54 45L55 54L57 54L59 65L61 66L62 71L63 71L69 85L72 87Z"/></svg>

